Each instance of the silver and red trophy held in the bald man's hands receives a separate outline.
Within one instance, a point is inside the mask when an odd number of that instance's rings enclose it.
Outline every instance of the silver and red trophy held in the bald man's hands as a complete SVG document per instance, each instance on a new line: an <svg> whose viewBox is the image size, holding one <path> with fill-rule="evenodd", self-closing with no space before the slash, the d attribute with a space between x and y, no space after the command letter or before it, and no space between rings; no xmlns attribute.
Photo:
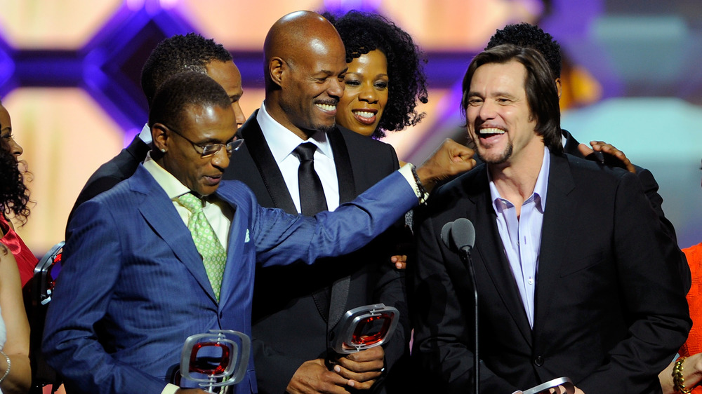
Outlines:
<svg viewBox="0 0 702 394"><path fill-rule="evenodd" d="M385 304L353 308L344 314L331 348L338 354L350 354L385 344L397 327L399 311Z"/></svg>

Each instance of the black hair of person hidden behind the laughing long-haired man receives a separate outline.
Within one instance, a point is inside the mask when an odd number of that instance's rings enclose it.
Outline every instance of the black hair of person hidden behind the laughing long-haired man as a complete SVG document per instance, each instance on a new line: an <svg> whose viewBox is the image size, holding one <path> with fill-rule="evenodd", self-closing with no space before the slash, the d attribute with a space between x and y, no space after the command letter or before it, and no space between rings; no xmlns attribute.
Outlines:
<svg viewBox="0 0 702 394"><path fill-rule="evenodd" d="M561 46L540 27L529 25L527 22L507 25L490 38L485 50L503 43L511 43L512 45L538 50L548 62L548 67L550 67L555 78L561 77Z"/></svg>

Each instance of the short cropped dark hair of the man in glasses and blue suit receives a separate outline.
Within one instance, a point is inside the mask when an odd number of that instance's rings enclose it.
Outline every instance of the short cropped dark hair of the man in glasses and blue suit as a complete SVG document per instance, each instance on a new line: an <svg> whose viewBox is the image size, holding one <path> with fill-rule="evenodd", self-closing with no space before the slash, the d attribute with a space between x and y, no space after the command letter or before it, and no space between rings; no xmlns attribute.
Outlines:
<svg viewBox="0 0 702 394"><path fill-rule="evenodd" d="M231 108L232 100L219 83L205 74L176 74L157 90L149 111L149 127L162 123L180 128L190 106Z"/></svg>

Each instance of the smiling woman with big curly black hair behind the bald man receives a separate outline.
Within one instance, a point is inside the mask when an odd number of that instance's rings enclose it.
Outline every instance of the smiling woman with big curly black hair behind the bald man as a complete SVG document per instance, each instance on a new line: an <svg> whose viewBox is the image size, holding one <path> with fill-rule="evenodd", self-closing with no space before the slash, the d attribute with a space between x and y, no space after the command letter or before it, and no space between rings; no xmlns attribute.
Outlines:
<svg viewBox="0 0 702 394"><path fill-rule="evenodd" d="M345 92L337 105L336 123L375 138L385 131L416 125L424 117L427 79L412 37L382 15L349 11L325 13L346 47L349 66Z"/></svg>

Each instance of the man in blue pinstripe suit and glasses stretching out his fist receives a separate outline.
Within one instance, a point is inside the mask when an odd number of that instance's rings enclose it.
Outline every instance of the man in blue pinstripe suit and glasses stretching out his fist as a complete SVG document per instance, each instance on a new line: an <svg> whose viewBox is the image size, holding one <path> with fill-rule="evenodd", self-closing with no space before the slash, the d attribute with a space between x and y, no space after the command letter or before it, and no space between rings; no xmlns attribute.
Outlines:
<svg viewBox="0 0 702 394"><path fill-rule="evenodd" d="M470 149L449 142L416 177L405 167L335 212L301 217L261 208L241 182L220 182L239 144L237 121L225 90L208 76L164 83L149 124L154 149L143 165L83 203L69 225L43 351L71 393L204 393L167 384L169 372L192 334L251 334L254 264L351 252L417 205L415 179L430 186L475 163ZM188 193L202 198L225 247L220 281L208 276L186 226L190 212L178 198ZM251 359L234 391L256 393Z"/></svg>

